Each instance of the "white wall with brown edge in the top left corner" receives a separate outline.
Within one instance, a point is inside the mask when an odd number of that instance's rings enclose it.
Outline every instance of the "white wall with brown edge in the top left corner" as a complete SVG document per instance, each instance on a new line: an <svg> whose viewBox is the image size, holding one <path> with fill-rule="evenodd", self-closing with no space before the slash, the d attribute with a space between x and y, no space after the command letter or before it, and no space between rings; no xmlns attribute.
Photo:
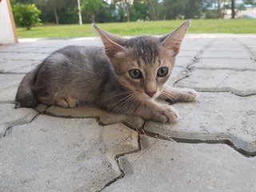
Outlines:
<svg viewBox="0 0 256 192"><path fill-rule="evenodd" d="M0 44L13 42L18 42L18 39L10 8L10 0L2 0L0 2Z"/></svg>

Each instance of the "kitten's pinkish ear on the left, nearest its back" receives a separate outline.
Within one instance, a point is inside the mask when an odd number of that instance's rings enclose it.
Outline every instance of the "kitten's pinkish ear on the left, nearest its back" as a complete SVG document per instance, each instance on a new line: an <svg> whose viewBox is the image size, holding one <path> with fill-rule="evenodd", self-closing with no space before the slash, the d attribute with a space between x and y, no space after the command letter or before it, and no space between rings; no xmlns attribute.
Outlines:
<svg viewBox="0 0 256 192"><path fill-rule="evenodd" d="M117 35L110 34L105 30L100 29L98 26L94 25L94 29L98 31L98 34L102 38L102 42L105 47L106 55L109 58L114 58L116 54L124 52L126 49L123 47L126 40Z"/></svg>

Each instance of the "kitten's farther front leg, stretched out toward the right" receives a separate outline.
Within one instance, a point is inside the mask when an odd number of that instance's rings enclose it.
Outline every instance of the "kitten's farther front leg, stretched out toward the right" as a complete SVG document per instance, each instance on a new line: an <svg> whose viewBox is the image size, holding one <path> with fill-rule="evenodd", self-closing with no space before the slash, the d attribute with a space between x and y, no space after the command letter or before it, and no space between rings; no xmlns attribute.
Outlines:
<svg viewBox="0 0 256 192"><path fill-rule="evenodd" d="M194 102L198 97L198 93L195 90L186 88L176 88L176 87L165 87L162 90L159 98L167 102Z"/></svg>

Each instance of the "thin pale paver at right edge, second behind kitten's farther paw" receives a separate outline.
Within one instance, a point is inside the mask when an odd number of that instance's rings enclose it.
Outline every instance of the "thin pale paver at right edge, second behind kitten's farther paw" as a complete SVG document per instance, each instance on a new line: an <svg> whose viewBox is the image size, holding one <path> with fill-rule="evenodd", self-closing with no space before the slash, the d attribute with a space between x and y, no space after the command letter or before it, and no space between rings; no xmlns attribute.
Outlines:
<svg viewBox="0 0 256 192"><path fill-rule="evenodd" d="M207 70L254 70L256 71L256 62L250 58L230 59L230 58L201 58L198 59L189 69L207 69Z"/></svg>

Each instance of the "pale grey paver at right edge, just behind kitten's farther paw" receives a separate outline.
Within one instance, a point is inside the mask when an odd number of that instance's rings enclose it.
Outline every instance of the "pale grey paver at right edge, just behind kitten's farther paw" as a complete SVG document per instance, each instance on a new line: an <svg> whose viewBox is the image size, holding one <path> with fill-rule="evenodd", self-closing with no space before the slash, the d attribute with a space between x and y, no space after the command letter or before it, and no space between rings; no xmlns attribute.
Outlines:
<svg viewBox="0 0 256 192"><path fill-rule="evenodd" d="M198 91L230 91L246 96L256 94L256 71L193 70L188 78L176 86L190 87Z"/></svg>

